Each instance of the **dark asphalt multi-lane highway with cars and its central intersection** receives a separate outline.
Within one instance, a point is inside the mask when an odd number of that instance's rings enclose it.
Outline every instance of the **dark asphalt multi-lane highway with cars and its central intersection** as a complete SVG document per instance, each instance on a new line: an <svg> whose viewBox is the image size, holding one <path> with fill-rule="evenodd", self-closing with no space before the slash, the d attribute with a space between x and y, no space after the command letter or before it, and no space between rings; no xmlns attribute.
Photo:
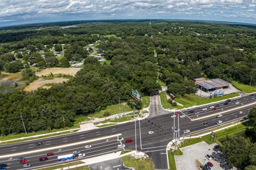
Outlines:
<svg viewBox="0 0 256 170"><path fill-rule="evenodd" d="M195 133L203 131L205 129L210 129L215 126L219 126L215 123L218 120L222 121L222 124L238 120L239 118L246 116L250 109L255 107L255 104L246 106L247 104L252 104L255 102L255 99L251 98L252 97L248 95L241 98L233 99L229 102L228 105L223 105L223 103L225 102L215 103L214 105L207 106L208 112L202 112L202 108L204 107L201 107L198 109L198 111L200 110L200 114L197 114L196 116L194 116L194 113L189 114L186 111L181 111L179 116L181 116L183 113L186 114L186 116L183 118L179 118L180 132L182 134L184 130L190 130L191 133ZM239 104L235 104L236 102L239 102ZM210 111L210 107L216 105L219 105L219 107L217 107L215 111ZM239 107L241 106L243 106L243 108L239 109ZM231 112L223 113L222 117L207 117L207 115L217 114L233 108L236 109ZM238 114L238 112L240 111L243 113ZM1 158L0 164L8 164L8 169L23 169L22 165L19 165L17 158L25 157L33 166L30 169L35 169L36 167L44 167L46 165L58 164L57 156L69 154L75 150L81 151L81 153L85 153L86 158L107 154L117 150L122 150L117 149L116 147L118 144L120 144L120 142L116 141L117 137L104 140L97 140L83 145L65 147L61 148L61 150L47 150L47 148L53 146L67 145L68 143L86 141L94 138L106 137L109 135L121 133L122 135L120 135L119 137L134 140L134 142L132 143L125 143L125 141L122 141L126 145L125 149L141 150L148 154L153 159L156 168L166 169L166 145L170 140L173 139L173 131L171 130L171 127L173 126L174 118L172 118L171 115L173 115L173 113L167 112L164 109L162 109L161 102L159 101L158 96L151 96L150 117L147 120L144 119L141 121L134 121L115 126L108 126L105 128L95 129L91 131L60 135L58 137L50 137L40 140L18 142L9 145L1 145L0 156L43 148L45 148L46 150L43 152L36 152L28 155L15 156L12 157L12 160L9 160L10 157ZM193 119L194 117L205 118L202 118L201 120L191 121L191 119ZM178 121L178 116L175 117L175 121ZM207 125L203 124L203 122L205 121L208 122ZM175 126L177 126L177 124ZM154 133L149 135L148 131L154 131ZM35 143L38 141L43 142L43 145L35 146ZM92 148L85 149L85 145L91 145ZM49 157L49 160L39 162L39 157L46 156L47 152L54 152L55 155Z"/></svg>

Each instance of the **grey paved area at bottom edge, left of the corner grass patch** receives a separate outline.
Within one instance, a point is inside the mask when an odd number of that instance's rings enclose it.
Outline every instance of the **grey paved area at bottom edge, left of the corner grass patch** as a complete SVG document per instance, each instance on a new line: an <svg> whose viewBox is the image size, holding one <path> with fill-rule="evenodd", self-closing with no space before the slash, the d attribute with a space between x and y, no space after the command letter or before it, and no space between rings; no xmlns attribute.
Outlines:
<svg viewBox="0 0 256 170"><path fill-rule="evenodd" d="M116 158L116 159L112 159L112 160L107 160L105 162L92 164L92 165L90 165L90 169L91 170L100 170L100 169L103 169L103 170L110 170L110 169L126 170L126 169L132 169L132 168L125 167L123 165L122 158Z"/></svg>

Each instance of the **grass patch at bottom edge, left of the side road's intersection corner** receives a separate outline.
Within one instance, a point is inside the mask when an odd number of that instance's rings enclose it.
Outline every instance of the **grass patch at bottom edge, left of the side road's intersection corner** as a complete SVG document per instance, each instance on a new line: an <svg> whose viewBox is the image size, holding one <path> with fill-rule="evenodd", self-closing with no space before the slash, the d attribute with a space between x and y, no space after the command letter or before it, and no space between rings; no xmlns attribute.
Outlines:
<svg viewBox="0 0 256 170"><path fill-rule="evenodd" d="M134 167L135 170L150 170L154 169L154 163L150 158L135 159L127 155L122 157L123 163L126 167Z"/></svg>

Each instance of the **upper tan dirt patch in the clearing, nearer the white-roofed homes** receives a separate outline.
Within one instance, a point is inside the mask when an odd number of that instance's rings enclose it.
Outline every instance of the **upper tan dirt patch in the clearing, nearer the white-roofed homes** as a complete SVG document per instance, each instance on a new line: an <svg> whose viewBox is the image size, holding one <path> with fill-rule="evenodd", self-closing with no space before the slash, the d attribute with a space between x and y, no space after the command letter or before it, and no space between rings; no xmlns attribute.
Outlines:
<svg viewBox="0 0 256 170"><path fill-rule="evenodd" d="M42 75L50 75L52 74L68 74L68 75L75 75L79 70L82 68L74 68L74 67L67 67L67 68L59 68L59 67L54 67L54 68L49 68L45 69L41 72L36 73L39 77Z"/></svg>

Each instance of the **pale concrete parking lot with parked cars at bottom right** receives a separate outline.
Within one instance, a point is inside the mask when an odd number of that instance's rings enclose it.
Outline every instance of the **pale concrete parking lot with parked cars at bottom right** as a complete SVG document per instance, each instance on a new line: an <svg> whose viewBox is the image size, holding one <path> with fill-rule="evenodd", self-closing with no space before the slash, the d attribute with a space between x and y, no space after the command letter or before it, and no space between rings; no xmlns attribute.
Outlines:
<svg viewBox="0 0 256 170"><path fill-rule="evenodd" d="M215 145L217 144L213 143L212 145L209 145L206 142L199 142L194 145L180 148L183 155L175 156L177 170L197 170L196 160L201 164L211 162L213 164L211 169L230 169L225 163L223 154L218 149L214 148ZM212 157L211 160L205 157L207 154Z"/></svg>

